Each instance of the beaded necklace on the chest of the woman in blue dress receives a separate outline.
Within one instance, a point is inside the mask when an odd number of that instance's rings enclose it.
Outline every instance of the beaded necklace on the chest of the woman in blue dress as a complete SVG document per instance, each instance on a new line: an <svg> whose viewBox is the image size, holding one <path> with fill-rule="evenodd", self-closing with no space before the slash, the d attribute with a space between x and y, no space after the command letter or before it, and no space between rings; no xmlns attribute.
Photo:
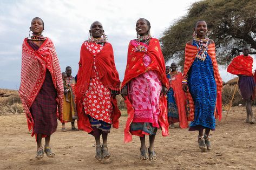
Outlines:
<svg viewBox="0 0 256 170"><path fill-rule="evenodd" d="M196 58L204 61L207 56L209 38L200 39L196 37L194 38L194 40L196 46L198 47L198 53L196 54Z"/></svg>

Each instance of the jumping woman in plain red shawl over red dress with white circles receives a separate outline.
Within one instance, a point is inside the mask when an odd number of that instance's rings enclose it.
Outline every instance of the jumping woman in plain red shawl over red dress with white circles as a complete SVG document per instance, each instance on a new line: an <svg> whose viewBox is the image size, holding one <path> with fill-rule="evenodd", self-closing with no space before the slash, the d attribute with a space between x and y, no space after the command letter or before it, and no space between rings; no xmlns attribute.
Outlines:
<svg viewBox="0 0 256 170"><path fill-rule="evenodd" d="M81 47L76 84L76 104L79 129L94 135L95 159L110 159L107 137L110 127L119 127L121 115L116 94L120 93L113 48L106 42L102 24L91 24L90 38ZM103 144L100 144L102 135Z"/></svg>

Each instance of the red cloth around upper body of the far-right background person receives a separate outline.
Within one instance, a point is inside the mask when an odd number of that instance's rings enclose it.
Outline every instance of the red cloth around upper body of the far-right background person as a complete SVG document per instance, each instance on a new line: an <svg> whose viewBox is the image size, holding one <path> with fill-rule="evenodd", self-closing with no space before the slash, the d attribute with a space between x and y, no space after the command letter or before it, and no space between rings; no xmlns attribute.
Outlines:
<svg viewBox="0 0 256 170"><path fill-rule="evenodd" d="M227 67L227 72L231 74L242 74L253 76L252 74L253 58L251 56L240 55L235 57Z"/></svg>

